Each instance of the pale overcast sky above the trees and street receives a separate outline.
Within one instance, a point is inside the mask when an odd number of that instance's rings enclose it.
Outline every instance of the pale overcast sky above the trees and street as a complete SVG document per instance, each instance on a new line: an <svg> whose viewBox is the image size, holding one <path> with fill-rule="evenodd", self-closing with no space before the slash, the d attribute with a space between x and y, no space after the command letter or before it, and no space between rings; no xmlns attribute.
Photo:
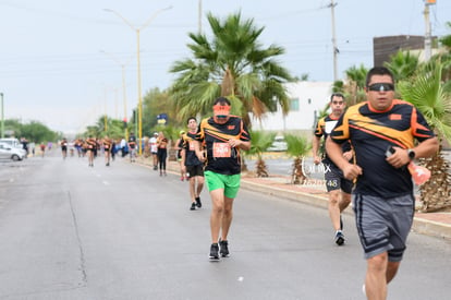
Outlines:
<svg viewBox="0 0 451 300"><path fill-rule="evenodd" d="M373 67L373 37L424 35L423 0L334 0L339 77L352 65ZM332 81L330 0L202 0L207 12L226 17L242 12L264 26L261 44L282 46L280 63L294 75ZM168 70L190 57L187 33L198 31L199 0L0 0L0 93L4 116L41 121L52 130L77 132L102 113L124 117L125 65L130 119L137 105L136 32L141 32L142 89L171 85ZM451 1L430 7L432 35L451 34Z"/></svg>

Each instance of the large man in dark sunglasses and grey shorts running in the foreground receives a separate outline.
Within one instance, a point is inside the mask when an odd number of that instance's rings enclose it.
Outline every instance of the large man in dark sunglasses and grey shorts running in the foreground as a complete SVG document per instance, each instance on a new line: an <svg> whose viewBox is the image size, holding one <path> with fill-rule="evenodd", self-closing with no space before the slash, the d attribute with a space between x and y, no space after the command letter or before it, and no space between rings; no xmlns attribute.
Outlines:
<svg viewBox="0 0 451 300"><path fill-rule="evenodd" d="M368 72L366 97L339 119L326 149L344 177L356 180L353 209L367 262L365 293L368 299L387 299L387 285L401 264L415 211L407 165L434 155L439 143L412 104L394 99L393 75L387 68ZM342 156L340 144L348 140L355 165Z"/></svg>

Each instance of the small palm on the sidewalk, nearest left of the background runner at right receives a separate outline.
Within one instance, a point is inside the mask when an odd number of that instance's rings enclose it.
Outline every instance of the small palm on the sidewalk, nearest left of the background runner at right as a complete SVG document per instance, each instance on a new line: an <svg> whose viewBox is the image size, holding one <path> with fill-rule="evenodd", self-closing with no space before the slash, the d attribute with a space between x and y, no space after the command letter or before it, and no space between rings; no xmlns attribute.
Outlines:
<svg viewBox="0 0 451 300"><path fill-rule="evenodd" d="M303 161L305 155L310 151L312 144L308 143L306 137L294 134L285 134L285 141L288 145L287 154L294 157L291 182L293 184L303 184L307 180L304 173Z"/></svg>

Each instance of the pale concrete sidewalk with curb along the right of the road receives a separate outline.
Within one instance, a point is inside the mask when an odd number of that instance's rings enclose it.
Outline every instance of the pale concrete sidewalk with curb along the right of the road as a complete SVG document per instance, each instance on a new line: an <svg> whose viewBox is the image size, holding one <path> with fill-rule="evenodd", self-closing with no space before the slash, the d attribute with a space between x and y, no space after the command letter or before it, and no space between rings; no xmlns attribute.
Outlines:
<svg viewBox="0 0 451 300"><path fill-rule="evenodd" d="M149 158L139 157L137 163L146 166L151 165ZM169 172L180 175L180 165L178 161L168 161L167 169ZM288 176L256 178L252 175L243 173L241 187L243 189L270 194L278 199L298 201L327 209L328 194L322 180L308 180L304 184L292 184ZM351 208L348 208L345 213L353 214ZM451 240L451 212L415 213L412 229L422 235Z"/></svg>

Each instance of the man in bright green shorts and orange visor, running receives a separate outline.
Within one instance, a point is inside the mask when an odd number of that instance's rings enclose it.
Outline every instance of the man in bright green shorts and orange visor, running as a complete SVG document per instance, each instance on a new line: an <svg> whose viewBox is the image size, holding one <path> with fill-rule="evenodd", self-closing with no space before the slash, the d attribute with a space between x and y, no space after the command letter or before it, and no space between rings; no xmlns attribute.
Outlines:
<svg viewBox="0 0 451 300"><path fill-rule="evenodd" d="M251 136L241 118L230 115L230 101L220 97L214 103L214 117L204 119L198 128L195 143L196 155L206 160L205 180L211 196L210 260L229 256L228 233L232 223L233 200L240 189L240 149L251 148ZM205 144L207 157L200 151ZM219 245L218 245L219 242Z"/></svg>

